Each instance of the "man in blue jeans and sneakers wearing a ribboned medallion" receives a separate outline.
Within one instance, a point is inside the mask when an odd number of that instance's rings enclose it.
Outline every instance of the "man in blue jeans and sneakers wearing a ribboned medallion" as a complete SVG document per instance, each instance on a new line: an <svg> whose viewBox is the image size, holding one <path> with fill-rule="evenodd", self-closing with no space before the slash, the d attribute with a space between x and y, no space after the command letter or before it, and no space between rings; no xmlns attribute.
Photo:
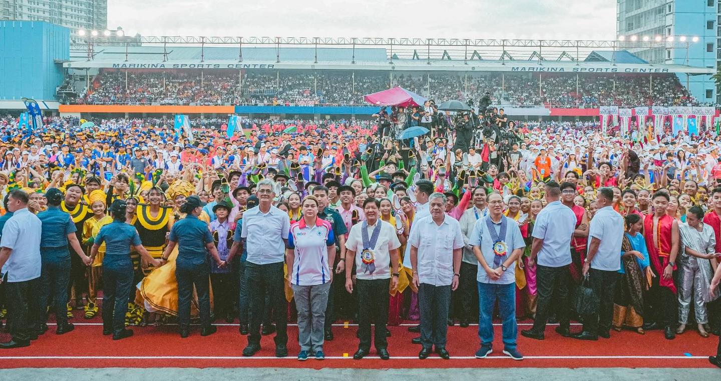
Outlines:
<svg viewBox="0 0 721 381"><path fill-rule="evenodd" d="M516 261L523 254L521 229L512 218L503 215L503 196L493 192L487 197L488 215L476 221L469 243L478 259L478 336L481 348L477 359L492 352L493 308L496 301L503 321L503 353L514 360L523 355L516 349Z"/></svg>

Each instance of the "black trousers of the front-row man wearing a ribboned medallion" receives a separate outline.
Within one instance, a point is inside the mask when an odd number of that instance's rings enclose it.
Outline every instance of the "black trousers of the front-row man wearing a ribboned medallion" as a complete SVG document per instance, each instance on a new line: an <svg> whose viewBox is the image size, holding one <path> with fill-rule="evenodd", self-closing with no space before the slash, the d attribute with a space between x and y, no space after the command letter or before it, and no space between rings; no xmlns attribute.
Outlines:
<svg viewBox="0 0 721 381"><path fill-rule="evenodd" d="M340 282L338 282L340 283ZM376 350L388 348L386 323L388 323L389 289L391 279L356 279L355 291L358 292L358 349L371 349L371 323L373 342Z"/></svg>

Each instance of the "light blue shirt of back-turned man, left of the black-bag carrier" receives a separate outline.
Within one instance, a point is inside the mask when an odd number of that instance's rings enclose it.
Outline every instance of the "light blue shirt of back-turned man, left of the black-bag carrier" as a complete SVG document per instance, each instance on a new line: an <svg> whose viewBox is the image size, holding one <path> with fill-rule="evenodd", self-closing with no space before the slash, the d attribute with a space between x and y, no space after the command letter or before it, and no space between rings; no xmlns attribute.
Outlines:
<svg viewBox="0 0 721 381"><path fill-rule="evenodd" d="M571 236L576 228L576 215L560 201L546 205L536 216L534 238L543 241L536 263L560 267L571 263Z"/></svg>

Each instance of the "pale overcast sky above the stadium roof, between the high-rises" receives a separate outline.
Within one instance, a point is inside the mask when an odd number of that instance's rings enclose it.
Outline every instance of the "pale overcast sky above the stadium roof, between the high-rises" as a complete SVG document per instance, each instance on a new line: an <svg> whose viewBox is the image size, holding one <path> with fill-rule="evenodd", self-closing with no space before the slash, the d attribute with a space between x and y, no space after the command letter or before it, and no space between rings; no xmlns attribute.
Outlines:
<svg viewBox="0 0 721 381"><path fill-rule="evenodd" d="M126 34L615 40L614 0L108 0ZM431 6L430 4L439 4Z"/></svg>

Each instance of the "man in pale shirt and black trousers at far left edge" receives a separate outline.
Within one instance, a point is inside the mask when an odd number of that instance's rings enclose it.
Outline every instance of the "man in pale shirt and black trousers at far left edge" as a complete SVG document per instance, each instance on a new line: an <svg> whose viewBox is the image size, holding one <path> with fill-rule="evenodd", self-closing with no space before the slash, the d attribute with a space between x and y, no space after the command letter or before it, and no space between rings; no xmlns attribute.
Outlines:
<svg viewBox="0 0 721 381"><path fill-rule="evenodd" d="M2 229L0 239L0 268L5 270L1 282L6 282L8 320L12 321L12 339L0 343L0 349L29 346L37 339L40 300L37 281L40 279L40 233L43 223L27 210L27 193L13 189L8 194L7 210L12 217Z"/></svg>

